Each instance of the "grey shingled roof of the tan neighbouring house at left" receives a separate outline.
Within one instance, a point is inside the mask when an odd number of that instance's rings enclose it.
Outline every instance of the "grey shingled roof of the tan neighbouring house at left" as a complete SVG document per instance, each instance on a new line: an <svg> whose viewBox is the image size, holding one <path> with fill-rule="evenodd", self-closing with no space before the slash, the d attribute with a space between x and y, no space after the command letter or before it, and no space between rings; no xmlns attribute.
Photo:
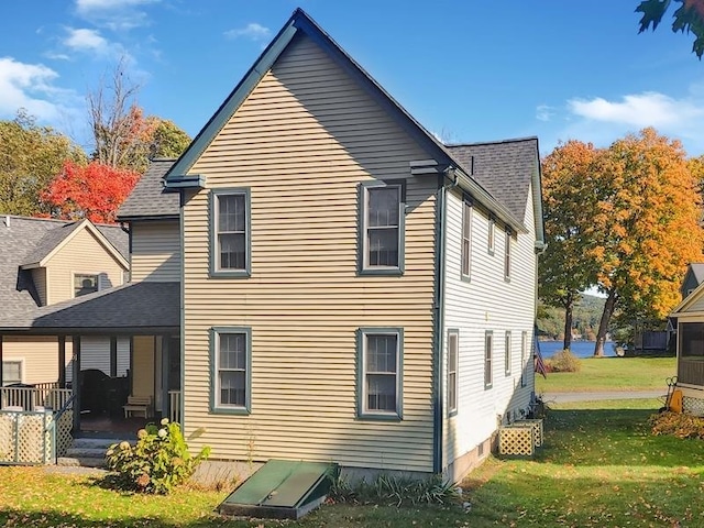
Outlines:
<svg viewBox="0 0 704 528"><path fill-rule="evenodd" d="M41 218L0 217L0 320L35 309L38 294L32 279L32 263L46 257L76 233L84 221L67 222ZM87 220L85 222L88 222ZM112 251L127 263L128 235L119 226L95 227Z"/></svg>

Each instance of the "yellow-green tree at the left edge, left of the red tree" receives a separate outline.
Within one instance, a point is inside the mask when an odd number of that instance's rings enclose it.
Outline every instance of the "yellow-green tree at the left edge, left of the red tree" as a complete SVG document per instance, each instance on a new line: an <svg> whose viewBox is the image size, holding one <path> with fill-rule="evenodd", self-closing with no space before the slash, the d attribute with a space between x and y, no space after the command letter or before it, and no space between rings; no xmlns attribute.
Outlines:
<svg viewBox="0 0 704 528"><path fill-rule="evenodd" d="M81 162L86 155L67 136L50 127L38 127L24 110L12 121L0 121L0 212L48 212L40 193L65 160Z"/></svg>

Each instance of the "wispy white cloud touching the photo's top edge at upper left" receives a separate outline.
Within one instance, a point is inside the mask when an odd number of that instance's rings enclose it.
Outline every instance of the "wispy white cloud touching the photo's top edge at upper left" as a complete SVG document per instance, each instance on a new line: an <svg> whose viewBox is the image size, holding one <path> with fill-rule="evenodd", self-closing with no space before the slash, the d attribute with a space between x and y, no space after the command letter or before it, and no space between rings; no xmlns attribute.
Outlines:
<svg viewBox="0 0 704 528"><path fill-rule="evenodd" d="M148 25L150 19L140 8L161 0L76 0L76 13L100 28L129 31Z"/></svg>

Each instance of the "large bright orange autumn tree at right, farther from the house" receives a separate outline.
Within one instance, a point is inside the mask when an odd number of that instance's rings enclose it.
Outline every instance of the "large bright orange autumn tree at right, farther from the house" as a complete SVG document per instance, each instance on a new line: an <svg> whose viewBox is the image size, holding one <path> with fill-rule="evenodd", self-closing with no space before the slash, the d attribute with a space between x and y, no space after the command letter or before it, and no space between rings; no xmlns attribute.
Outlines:
<svg viewBox="0 0 704 528"><path fill-rule="evenodd" d="M700 195L679 141L645 129L603 151L593 167L597 197L587 235L587 258L606 302L594 355L617 307L632 317L664 318L679 301L691 262L702 260Z"/></svg>

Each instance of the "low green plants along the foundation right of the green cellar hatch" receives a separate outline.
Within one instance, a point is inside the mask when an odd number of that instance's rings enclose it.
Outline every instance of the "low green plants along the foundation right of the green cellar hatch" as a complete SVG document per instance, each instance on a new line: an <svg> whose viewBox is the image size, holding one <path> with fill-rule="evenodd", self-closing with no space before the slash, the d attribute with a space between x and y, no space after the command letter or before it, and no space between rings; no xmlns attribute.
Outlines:
<svg viewBox="0 0 704 528"><path fill-rule="evenodd" d="M330 487L330 499L337 503L414 506L419 504L449 504L461 497L460 488L441 475L428 479L402 479L381 474L374 481L364 479L352 484L338 477Z"/></svg>

